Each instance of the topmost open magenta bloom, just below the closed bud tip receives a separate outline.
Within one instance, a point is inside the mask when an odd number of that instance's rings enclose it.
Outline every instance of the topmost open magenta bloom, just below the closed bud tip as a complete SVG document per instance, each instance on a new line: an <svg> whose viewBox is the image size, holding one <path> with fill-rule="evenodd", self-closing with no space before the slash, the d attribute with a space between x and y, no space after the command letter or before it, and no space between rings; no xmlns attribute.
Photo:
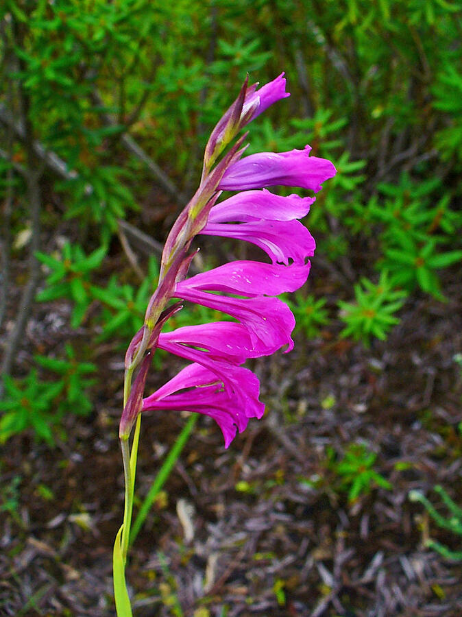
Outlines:
<svg viewBox="0 0 462 617"><path fill-rule="evenodd" d="M236 161L228 167L219 189L242 191L263 186L300 186L317 193L321 183L337 173L326 158L309 156L311 147L290 152L260 152Z"/></svg>

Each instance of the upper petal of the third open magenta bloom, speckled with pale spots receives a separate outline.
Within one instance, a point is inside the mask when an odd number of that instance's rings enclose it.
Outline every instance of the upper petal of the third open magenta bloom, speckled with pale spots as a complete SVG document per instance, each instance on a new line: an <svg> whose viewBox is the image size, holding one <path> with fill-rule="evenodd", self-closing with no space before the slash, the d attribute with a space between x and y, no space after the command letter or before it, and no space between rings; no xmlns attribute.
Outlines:
<svg viewBox="0 0 462 617"><path fill-rule="evenodd" d="M177 290L180 293L183 289L224 291L250 298L260 294L279 295L302 287L309 271L309 262L285 266L259 261L231 261L177 283Z"/></svg>

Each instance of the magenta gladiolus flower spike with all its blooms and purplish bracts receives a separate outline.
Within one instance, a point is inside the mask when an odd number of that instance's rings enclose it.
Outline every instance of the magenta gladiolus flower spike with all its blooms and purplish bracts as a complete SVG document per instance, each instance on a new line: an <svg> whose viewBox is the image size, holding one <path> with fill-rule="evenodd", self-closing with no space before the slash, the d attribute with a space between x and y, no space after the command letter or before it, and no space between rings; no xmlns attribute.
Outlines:
<svg viewBox="0 0 462 617"><path fill-rule="evenodd" d="M258 378L243 363L250 358L289 352L295 319L289 306L276 298L304 285L308 258L315 241L300 222L315 197L275 195L267 186L298 186L317 193L335 176L329 160L310 156L311 148L263 152L241 158L242 141L221 156L239 130L276 101L289 96L284 73L259 90L245 82L239 97L212 131L204 156L199 189L175 222L162 254L159 287L149 302L145 325L127 352L128 372L154 348L175 354L190 364L154 394L141 398L147 372L143 361L127 400L121 436L127 438L141 411L192 411L219 424L225 447L250 418L261 418L264 405ZM217 164L216 161L221 156ZM217 203L221 191L241 191ZM186 278L197 234L239 239L256 245L271 263L234 261ZM175 311L171 299L221 311L234 322L186 326L161 332Z"/></svg>

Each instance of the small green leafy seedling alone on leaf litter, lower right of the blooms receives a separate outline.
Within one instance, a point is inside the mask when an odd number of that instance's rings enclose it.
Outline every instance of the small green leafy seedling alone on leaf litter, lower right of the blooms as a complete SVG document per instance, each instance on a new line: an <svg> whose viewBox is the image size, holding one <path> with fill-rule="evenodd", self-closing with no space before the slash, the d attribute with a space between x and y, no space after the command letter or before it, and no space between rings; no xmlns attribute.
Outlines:
<svg viewBox="0 0 462 617"><path fill-rule="evenodd" d="M348 493L348 500L355 501L360 495L368 494L374 487L391 489L376 470L376 452L371 452L363 444L350 444L341 460L333 448L328 448L328 468L339 479L338 489Z"/></svg>

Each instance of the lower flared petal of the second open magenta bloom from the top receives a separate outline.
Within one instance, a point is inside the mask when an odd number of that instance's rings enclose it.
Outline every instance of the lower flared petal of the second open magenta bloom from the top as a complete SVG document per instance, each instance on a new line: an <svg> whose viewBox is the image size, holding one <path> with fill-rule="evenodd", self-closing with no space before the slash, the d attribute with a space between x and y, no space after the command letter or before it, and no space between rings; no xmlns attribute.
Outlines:
<svg viewBox="0 0 462 617"><path fill-rule="evenodd" d="M250 221L249 223L207 223L200 232L245 240L263 249L271 261L286 265L289 259L303 264L315 254L315 239L300 221Z"/></svg>

